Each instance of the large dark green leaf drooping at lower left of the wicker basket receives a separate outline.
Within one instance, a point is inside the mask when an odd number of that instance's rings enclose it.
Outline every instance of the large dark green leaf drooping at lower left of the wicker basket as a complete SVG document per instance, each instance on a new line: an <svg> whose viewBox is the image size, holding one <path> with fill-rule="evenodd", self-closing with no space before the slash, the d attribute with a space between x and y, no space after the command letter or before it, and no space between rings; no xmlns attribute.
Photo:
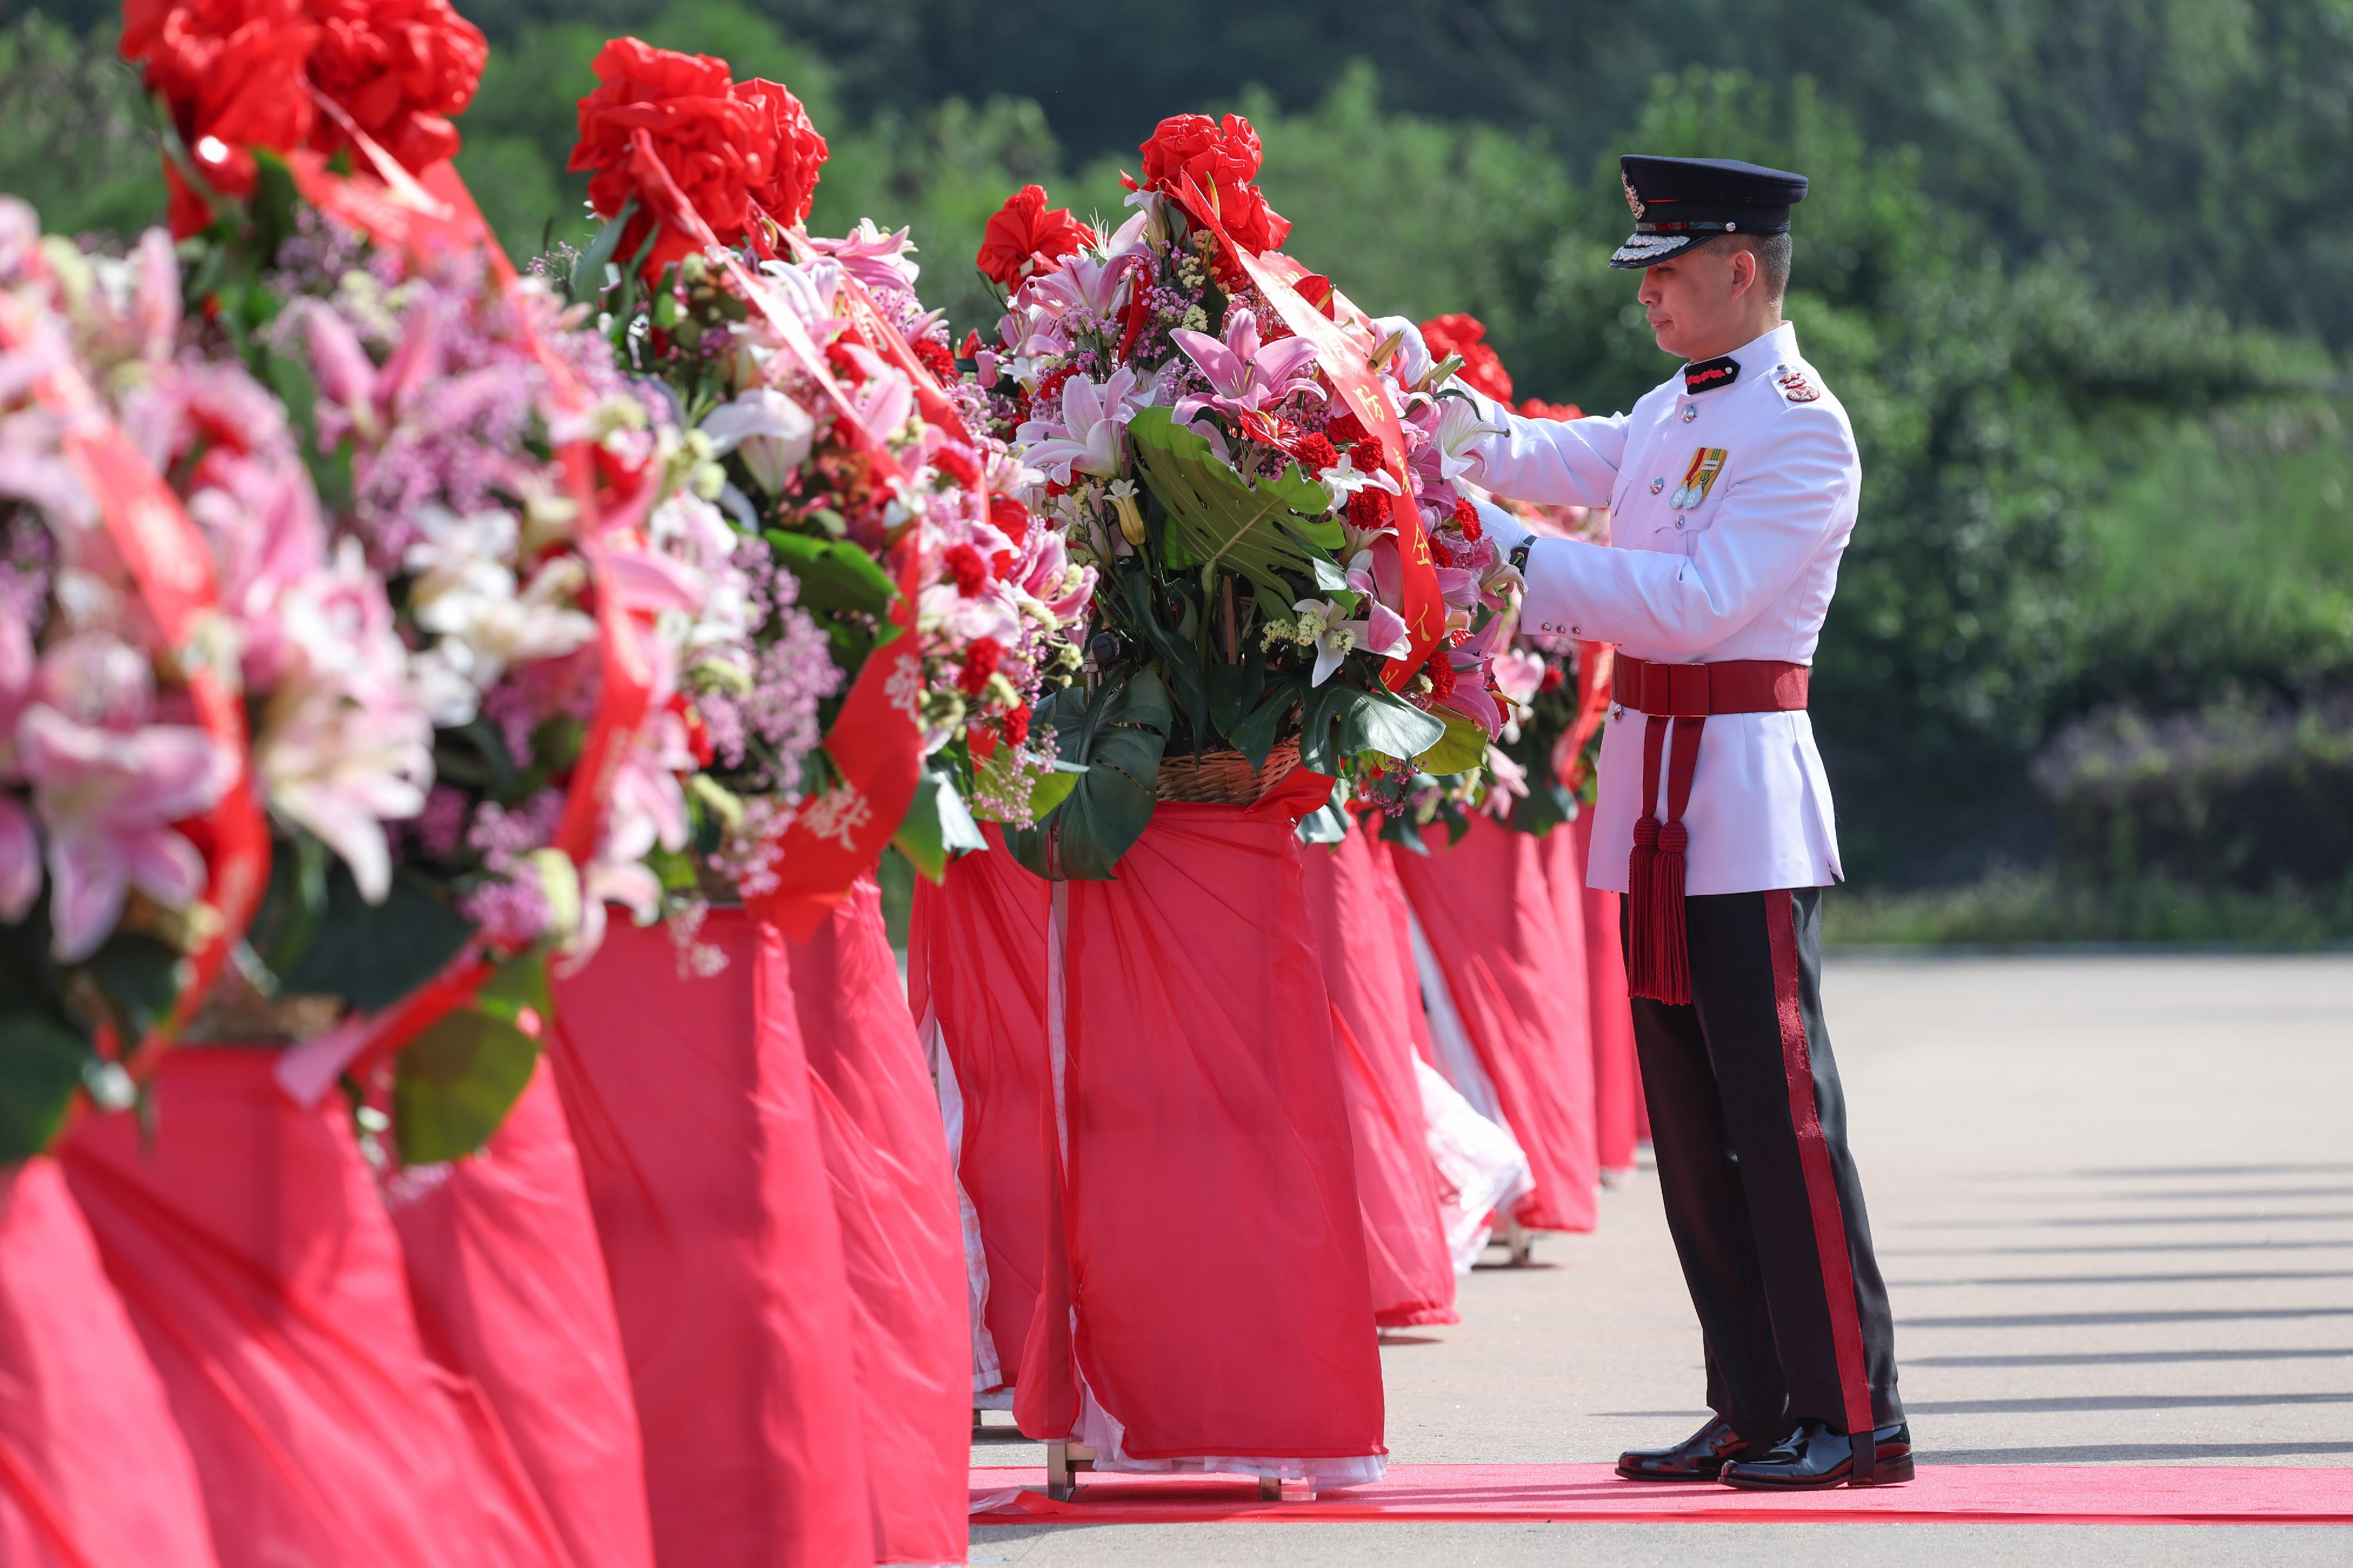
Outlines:
<svg viewBox="0 0 2353 1568"><path fill-rule="evenodd" d="M1071 698L1075 691L1054 696ZM1153 820L1160 755L1176 715L1167 686L1151 670L1106 679L1094 698L1082 701L1080 717L1068 717L1068 703L1049 717L1064 762L1082 762L1087 771L1052 816L1007 832L1005 842L1040 877L1111 882L1111 867Z"/></svg>

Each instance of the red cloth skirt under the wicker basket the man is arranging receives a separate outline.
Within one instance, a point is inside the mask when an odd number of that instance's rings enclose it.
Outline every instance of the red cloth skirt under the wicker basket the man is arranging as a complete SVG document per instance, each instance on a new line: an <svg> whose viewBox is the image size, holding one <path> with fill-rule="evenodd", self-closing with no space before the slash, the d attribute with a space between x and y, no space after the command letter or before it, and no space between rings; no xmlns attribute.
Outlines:
<svg viewBox="0 0 2353 1568"><path fill-rule="evenodd" d="M1054 926L1061 1225L1021 1429L1099 1469L1377 1479L1365 1225L1292 820L1162 804L1118 882L1054 884Z"/></svg>

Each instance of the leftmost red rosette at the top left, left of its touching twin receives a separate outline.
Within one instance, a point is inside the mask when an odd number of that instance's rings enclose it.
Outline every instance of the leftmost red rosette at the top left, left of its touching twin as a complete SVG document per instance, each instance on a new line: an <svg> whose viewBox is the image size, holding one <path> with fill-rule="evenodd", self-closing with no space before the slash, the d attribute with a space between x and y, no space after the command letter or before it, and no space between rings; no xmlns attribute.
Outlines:
<svg viewBox="0 0 2353 1568"><path fill-rule="evenodd" d="M259 169L247 148L289 153L311 136L304 63L318 42L301 0L127 0L122 59L144 66L148 89L202 179L221 195L252 195ZM165 165L172 233L212 221L176 165Z"/></svg>

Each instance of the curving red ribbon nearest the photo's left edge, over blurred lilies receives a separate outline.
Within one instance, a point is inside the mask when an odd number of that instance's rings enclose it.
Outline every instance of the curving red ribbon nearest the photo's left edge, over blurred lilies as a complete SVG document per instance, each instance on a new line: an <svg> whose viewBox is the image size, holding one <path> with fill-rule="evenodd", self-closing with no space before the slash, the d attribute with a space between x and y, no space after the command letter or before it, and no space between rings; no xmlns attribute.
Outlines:
<svg viewBox="0 0 2353 1568"><path fill-rule="evenodd" d="M31 320L14 296L0 296L0 346L33 348L45 329ZM233 675L212 665L205 623L219 614L219 590L212 557L172 487L132 447L122 428L99 404L96 393L73 367L64 343L49 355L49 371L33 383L33 397L66 418L66 458L82 477L92 503L115 550L139 585L139 599L155 618L165 646L181 668L198 726L228 750L238 773L221 799L186 823L205 849L205 905L214 919L198 940L188 983L181 985L169 1018L146 1039L129 1041L122 1065L144 1074L158 1053L195 1016L212 983L228 961L228 950L245 936L268 882L271 835L254 802L252 748L245 736L245 708ZM120 1051L101 1030L101 1053Z"/></svg>

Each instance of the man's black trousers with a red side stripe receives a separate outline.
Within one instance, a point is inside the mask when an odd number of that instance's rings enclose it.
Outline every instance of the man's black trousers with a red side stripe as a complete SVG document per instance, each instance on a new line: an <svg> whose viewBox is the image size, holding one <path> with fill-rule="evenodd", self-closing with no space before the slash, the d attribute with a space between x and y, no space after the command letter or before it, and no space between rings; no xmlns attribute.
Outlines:
<svg viewBox="0 0 2353 1568"><path fill-rule="evenodd" d="M1751 1443L1904 1420L1821 1023L1821 889L1689 898L1685 924L1692 1001L1638 997L1633 1034L1708 1406Z"/></svg>

